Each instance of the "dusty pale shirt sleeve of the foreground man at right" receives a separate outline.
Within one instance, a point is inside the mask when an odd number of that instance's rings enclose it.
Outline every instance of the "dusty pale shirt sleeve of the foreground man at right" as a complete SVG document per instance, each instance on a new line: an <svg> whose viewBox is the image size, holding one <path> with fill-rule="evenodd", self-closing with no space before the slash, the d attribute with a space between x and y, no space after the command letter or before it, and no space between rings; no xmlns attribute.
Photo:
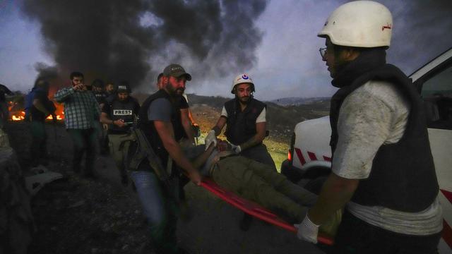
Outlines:
<svg viewBox="0 0 452 254"><path fill-rule="evenodd" d="M379 147L402 138L409 110L390 83L369 81L352 92L340 107L333 172L346 179L367 179Z"/></svg>

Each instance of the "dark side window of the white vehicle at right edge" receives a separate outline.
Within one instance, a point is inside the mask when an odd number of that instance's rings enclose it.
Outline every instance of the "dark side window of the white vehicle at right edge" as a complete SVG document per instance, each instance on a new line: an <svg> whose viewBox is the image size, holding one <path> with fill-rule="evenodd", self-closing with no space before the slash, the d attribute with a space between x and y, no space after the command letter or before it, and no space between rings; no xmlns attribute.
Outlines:
<svg viewBox="0 0 452 254"><path fill-rule="evenodd" d="M421 96L429 128L452 129L452 66L424 81Z"/></svg>

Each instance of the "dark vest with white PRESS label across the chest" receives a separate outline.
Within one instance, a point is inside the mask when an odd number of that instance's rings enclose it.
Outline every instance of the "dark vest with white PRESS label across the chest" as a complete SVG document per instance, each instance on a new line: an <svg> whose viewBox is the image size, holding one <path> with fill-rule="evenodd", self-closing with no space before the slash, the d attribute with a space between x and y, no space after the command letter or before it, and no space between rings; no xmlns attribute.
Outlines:
<svg viewBox="0 0 452 254"><path fill-rule="evenodd" d="M112 121L123 119L126 123L132 123L138 112L134 111L136 109L136 100L133 97L127 98L125 102L119 101L119 99L114 99L109 105L109 116ZM116 124L109 124L108 133L109 134L124 134L127 133L131 124L127 124L124 127L119 127Z"/></svg>

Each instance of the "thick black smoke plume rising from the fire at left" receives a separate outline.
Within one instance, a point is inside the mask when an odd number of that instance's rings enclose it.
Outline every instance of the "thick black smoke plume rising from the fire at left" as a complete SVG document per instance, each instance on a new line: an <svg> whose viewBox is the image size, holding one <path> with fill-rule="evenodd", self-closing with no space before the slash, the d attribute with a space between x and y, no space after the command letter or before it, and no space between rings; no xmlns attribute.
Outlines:
<svg viewBox="0 0 452 254"><path fill-rule="evenodd" d="M266 5L266 0L24 0L22 11L40 23L44 50L62 80L82 71L86 83L129 80L137 87L153 85L155 74L171 62L182 63L194 79L251 68L262 40L254 21Z"/></svg>

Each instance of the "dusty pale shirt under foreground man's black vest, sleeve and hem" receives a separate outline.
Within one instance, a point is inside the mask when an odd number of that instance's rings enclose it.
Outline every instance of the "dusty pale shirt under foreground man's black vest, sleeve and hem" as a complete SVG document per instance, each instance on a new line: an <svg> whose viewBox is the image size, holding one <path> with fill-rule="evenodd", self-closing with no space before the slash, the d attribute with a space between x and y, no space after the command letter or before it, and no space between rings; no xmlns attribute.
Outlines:
<svg viewBox="0 0 452 254"><path fill-rule="evenodd" d="M409 102L390 83L371 80L352 92L340 107L334 174L367 179L379 147L397 143L403 137L409 111ZM347 210L364 222L400 234L424 236L442 228L437 198L426 210L414 213L355 202L348 202Z"/></svg>

